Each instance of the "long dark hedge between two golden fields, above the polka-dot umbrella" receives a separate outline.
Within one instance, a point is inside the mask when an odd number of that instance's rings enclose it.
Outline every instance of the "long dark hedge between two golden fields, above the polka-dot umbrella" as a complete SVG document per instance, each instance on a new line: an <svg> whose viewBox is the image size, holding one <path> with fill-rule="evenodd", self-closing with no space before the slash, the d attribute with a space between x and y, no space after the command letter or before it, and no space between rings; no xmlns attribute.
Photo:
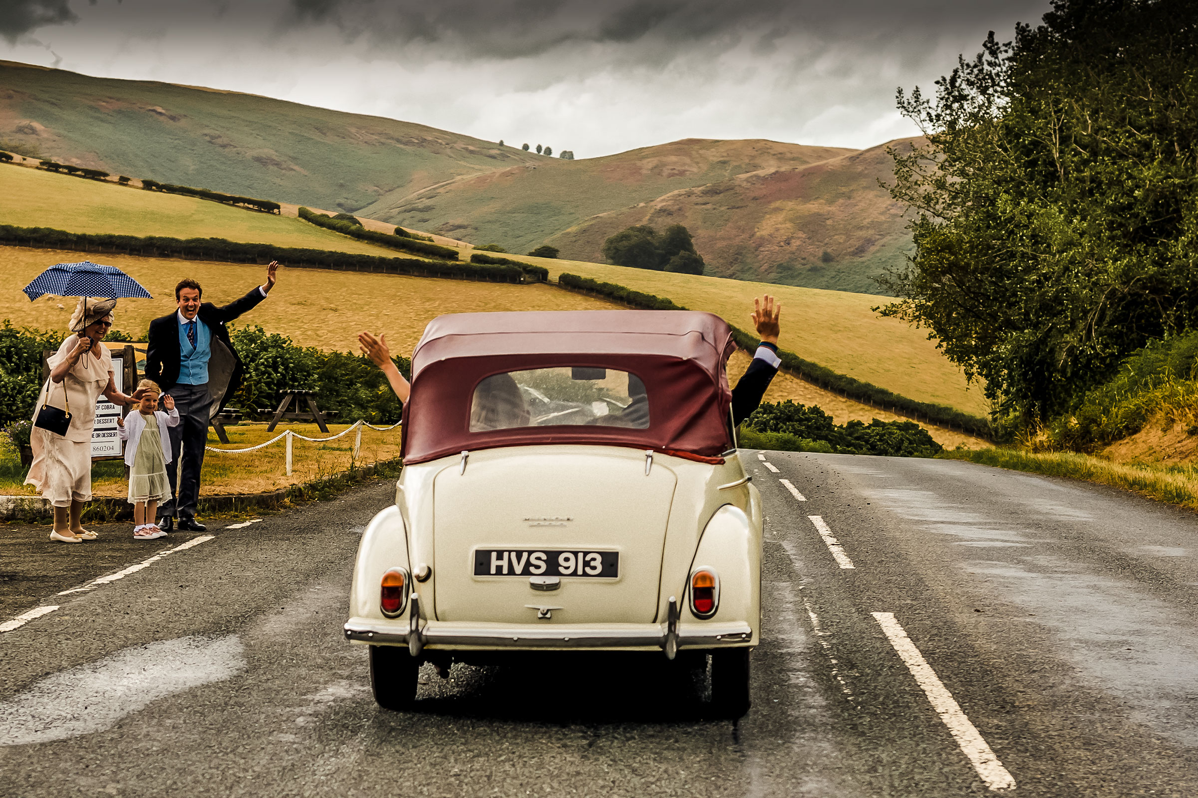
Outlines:
<svg viewBox="0 0 1198 798"><path fill-rule="evenodd" d="M165 236L113 236L71 233L52 227L16 227L0 225L0 244L10 246L42 246L71 249L84 252L123 252L147 257L186 257L195 261L228 261L230 263L270 263L279 261L289 268L338 269L341 272L379 272L411 274L425 278L456 278L489 282L521 282L521 272L514 266L483 266L422 261L415 257L379 257L323 249L298 249L272 244L243 244L224 238L168 238Z"/></svg>

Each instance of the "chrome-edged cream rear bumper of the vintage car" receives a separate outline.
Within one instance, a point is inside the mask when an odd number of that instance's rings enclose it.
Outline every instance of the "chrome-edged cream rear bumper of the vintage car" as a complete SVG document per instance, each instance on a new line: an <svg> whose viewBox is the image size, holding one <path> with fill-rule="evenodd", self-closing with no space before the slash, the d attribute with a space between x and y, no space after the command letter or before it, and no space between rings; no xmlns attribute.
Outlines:
<svg viewBox="0 0 1198 798"><path fill-rule="evenodd" d="M660 623L588 623L532 626L514 623L453 623L430 621L420 631L424 648L458 651L664 651L666 628ZM351 619L345 639L371 645L407 645L406 621ZM752 627L743 621L688 625L678 628L678 648L721 648L756 644Z"/></svg>

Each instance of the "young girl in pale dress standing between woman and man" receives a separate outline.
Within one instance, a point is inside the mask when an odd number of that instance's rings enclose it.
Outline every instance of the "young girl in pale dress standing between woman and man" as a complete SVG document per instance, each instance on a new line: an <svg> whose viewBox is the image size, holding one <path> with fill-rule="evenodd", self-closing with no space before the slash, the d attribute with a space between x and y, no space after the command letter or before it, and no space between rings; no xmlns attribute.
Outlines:
<svg viewBox="0 0 1198 798"><path fill-rule="evenodd" d="M163 398L167 413L155 409L162 389L153 380L143 379L138 383L138 389L143 388L146 392L138 403L138 409L126 419L117 419L116 424L121 427L121 440L128 441L125 464L129 467L133 538L152 541L167 535L152 519L157 516L158 502L170 495L167 463L171 461L171 451L167 427L179 425L179 410L170 395Z"/></svg>

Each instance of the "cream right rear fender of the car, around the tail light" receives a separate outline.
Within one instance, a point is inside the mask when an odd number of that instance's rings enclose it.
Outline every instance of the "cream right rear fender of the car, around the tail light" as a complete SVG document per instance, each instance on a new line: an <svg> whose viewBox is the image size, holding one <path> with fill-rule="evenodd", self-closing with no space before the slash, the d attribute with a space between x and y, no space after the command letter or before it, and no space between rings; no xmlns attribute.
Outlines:
<svg viewBox="0 0 1198 798"><path fill-rule="evenodd" d="M720 580L720 605L713 622L745 621L756 640L761 615L761 525L734 505L724 505L712 516L695 550L690 571L710 567ZM688 574L683 620L703 623L690 614Z"/></svg>

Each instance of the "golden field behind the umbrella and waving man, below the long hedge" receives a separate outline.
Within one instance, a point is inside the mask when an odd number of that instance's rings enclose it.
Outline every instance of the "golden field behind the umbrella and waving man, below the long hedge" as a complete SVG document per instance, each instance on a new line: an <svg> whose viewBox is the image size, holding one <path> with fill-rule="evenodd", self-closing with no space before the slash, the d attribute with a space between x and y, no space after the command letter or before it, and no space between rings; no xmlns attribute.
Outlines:
<svg viewBox="0 0 1198 798"><path fill-rule="evenodd" d="M204 285L204 299L217 304L241 297L266 276L264 267L237 263L2 246L0 318L12 319L18 325L65 330L74 307L73 299L46 297L31 303L20 290L42 269L84 257L125 269L155 296L155 299L122 299L116 306L116 329L138 339L150 319L171 312L175 284L184 276L199 280ZM63 307L59 309L59 304ZM270 298L237 323L261 324L272 333L291 336L302 346L343 352L357 352L359 330L382 331L392 349L406 355L411 354L424 327L441 313L609 307L616 305L546 285L284 268Z"/></svg>

